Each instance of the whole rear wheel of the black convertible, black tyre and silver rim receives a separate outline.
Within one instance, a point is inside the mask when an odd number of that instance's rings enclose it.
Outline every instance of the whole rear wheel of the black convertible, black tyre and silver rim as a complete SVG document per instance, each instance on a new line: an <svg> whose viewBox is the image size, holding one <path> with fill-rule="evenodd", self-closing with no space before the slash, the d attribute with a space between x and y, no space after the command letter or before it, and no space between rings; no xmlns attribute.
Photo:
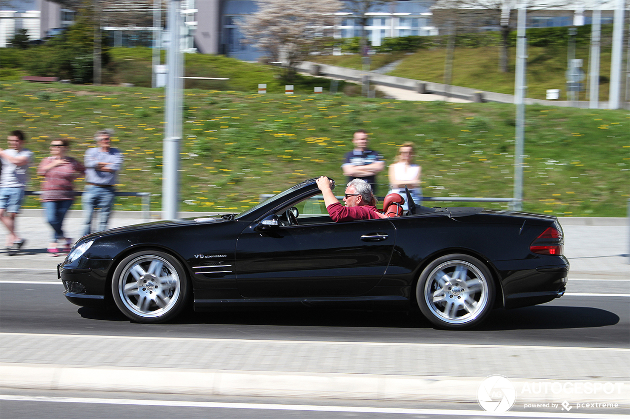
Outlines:
<svg viewBox="0 0 630 419"><path fill-rule="evenodd" d="M435 259L418 279L416 301L434 325L466 329L490 313L495 284L486 265L469 255L452 254Z"/></svg>

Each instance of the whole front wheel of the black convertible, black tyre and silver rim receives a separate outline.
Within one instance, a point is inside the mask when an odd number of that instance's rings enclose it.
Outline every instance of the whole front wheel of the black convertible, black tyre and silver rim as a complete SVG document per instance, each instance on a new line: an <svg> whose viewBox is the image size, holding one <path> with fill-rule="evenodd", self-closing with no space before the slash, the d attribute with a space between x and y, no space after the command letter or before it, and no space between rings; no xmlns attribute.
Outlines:
<svg viewBox="0 0 630 419"><path fill-rule="evenodd" d="M112 295L120 311L139 323L162 323L178 315L188 300L188 280L169 254L144 251L118 264Z"/></svg>

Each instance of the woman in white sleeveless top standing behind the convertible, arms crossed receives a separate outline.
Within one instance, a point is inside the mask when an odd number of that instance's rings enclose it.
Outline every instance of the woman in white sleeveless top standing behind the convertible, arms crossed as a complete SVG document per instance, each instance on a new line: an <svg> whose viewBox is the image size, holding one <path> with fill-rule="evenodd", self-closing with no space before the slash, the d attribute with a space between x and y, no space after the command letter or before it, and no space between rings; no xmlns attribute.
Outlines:
<svg viewBox="0 0 630 419"><path fill-rule="evenodd" d="M398 150L396 161L389 165L388 194L398 193L406 200L404 186L409 188L411 198L416 204L422 203L422 188L420 187L420 175L422 168L413 164L413 143L404 143ZM406 210L407 203L403 208Z"/></svg>

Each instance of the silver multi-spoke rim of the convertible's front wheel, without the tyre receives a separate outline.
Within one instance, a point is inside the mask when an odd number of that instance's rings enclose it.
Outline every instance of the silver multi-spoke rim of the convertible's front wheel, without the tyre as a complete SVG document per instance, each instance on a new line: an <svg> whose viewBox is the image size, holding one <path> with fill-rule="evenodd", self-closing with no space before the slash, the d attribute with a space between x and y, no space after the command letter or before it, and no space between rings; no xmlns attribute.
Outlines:
<svg viewBox="0 0 630 419"><path fill-rule="evenodd" d="M177 269L154 254L130 260L117 281L121 303L141 318L161 318L180 300L181 279Z"/></svg>

